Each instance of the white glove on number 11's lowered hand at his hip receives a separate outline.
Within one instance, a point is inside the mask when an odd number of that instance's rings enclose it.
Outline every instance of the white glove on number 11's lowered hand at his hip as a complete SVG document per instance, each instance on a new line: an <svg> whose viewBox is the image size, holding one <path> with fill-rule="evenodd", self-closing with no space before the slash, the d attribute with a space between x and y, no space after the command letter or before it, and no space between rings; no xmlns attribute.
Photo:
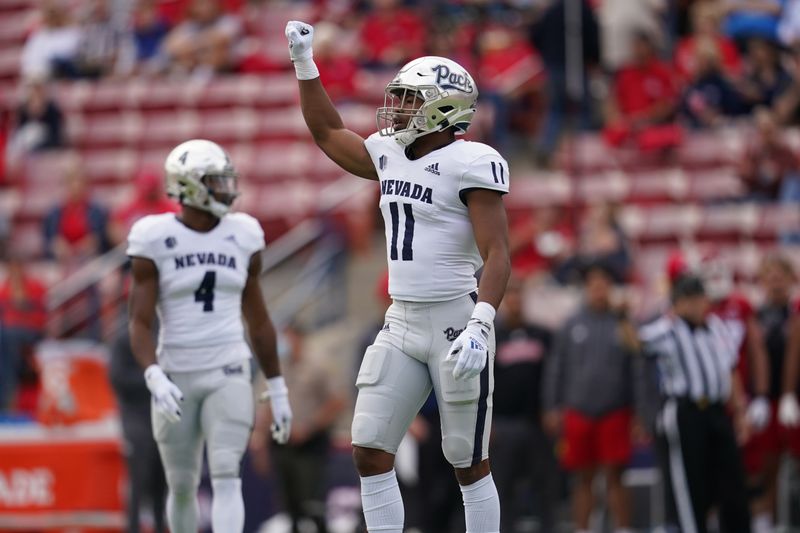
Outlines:
<svg viewBox="0 0 800 533"><path fill-rule="evenodd" d="M467 327L453 341L447 361L456 361L453 377L467 380L481 373L489 358L489 334L494 323L495 310L486 302L475 304Z"/></svg>

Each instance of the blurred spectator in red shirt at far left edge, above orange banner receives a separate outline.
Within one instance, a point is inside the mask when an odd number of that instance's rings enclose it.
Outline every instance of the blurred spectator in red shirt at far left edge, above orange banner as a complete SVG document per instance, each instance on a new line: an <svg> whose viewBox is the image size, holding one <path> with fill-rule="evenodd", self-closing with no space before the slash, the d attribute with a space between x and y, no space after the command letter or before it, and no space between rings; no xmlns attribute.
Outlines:
<svg viewBox="0 0 800 533"><path fill-rule="evenodd" d="M19 257L9 258L0 282L0 411L13 407L25 352L44 333L46 294Z"/></svg>

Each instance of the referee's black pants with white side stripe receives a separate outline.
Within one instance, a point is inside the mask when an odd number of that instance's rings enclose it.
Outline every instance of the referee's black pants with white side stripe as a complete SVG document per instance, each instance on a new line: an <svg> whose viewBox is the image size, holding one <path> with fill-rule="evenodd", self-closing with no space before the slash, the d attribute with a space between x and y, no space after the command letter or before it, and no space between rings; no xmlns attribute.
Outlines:
<svg viewBox="0 0 800 533"><path fill-rule="evenodd" d="M660 421L668 523L682 533L705 533L716 508L722 533L750 533L744 467L725 407L671 398Z"/></svg>

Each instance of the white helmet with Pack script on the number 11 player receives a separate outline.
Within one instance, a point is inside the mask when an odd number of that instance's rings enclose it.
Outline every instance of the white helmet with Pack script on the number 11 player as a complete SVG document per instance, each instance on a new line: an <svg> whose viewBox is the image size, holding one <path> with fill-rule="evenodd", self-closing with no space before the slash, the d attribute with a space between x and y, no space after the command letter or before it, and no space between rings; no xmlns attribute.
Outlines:
<svg viewBox="0 0 800 533"><path fill-rule="evenodd" d="M378 132L401 146L450 127L463 135L477 100L478 87L464 67L444 57L420 57L403 66L386 86L377 112Z"/></svg>

